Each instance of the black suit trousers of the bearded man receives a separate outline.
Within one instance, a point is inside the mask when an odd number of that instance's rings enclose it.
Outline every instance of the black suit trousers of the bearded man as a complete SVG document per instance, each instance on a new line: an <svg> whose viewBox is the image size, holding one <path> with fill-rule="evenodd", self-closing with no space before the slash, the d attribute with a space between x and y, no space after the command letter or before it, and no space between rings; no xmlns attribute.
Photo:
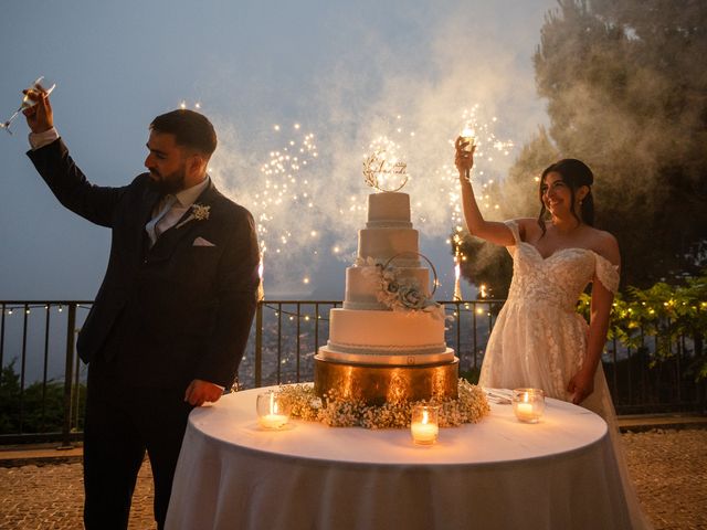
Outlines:
<svg viewBox="0 0 707 530"><path fill-rule="evenodd" d="M84 522L88 530L127 529L147 451L155 480L155 519L161 529L192 406L183 401L186 389L131 386L116 377L113 364L96 360L88 367Z"/></svg>

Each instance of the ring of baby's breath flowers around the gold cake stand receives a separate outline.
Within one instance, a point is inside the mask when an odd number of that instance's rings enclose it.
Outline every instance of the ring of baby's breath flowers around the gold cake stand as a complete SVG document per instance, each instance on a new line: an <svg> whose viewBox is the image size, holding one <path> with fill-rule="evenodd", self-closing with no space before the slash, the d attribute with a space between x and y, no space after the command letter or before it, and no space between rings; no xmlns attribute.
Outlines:
<svg viewBox="0 0 707 530"><path fill-rule="evenodd" d="M330 427L408 428L412 409L416 404L440 405L440 426L453 427L464 423L478 423L490 412L481 386L464 379L458 381L456 400L432 398L429 401L398 401L382 405L367 405L360 401L345 400L330 392L324 400L315 394L313 384L293 384L277 391L289 400L292 416L309 422L320 422Z"/></svg>

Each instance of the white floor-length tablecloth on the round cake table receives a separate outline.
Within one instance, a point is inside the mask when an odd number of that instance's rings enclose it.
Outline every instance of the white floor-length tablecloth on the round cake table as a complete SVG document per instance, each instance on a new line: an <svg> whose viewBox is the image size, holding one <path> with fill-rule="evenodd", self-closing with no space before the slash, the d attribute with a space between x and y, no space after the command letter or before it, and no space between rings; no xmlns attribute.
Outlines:
<svg viewBox="0 0 707 530"><path fill-rule="evenodd" d="M532 425L492 404L424 447L407 430L263 431L263 391L191 413L168 530L630 528L606 424L579 406L548 400Z"/></svg>

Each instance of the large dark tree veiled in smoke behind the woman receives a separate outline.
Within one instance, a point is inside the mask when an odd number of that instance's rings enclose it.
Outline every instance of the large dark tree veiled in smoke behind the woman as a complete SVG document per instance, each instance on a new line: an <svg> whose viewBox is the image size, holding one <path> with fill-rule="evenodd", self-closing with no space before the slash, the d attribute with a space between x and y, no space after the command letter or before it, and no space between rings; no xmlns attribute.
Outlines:
<svg viewBox="0 0 707 530"><path fill-rule="evenodd" d="M549 136L595 173L598 225L627 284L699 273L707 240L707 6L560 0L541 31L536 82Z"/></svg>

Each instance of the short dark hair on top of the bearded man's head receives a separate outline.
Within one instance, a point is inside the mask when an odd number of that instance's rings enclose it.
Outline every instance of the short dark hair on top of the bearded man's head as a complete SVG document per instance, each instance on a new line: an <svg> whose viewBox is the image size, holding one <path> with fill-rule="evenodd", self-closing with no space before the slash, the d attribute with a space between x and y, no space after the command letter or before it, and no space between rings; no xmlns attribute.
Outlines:
<svg viewBox="0 0 707 530"><path fill-rule="evenodd" d="M177 145L196 149L208 157L217 150L213 125L203 114L193 110L179 108L157 116L150 124L150 130L175 135Z"/></svg>

